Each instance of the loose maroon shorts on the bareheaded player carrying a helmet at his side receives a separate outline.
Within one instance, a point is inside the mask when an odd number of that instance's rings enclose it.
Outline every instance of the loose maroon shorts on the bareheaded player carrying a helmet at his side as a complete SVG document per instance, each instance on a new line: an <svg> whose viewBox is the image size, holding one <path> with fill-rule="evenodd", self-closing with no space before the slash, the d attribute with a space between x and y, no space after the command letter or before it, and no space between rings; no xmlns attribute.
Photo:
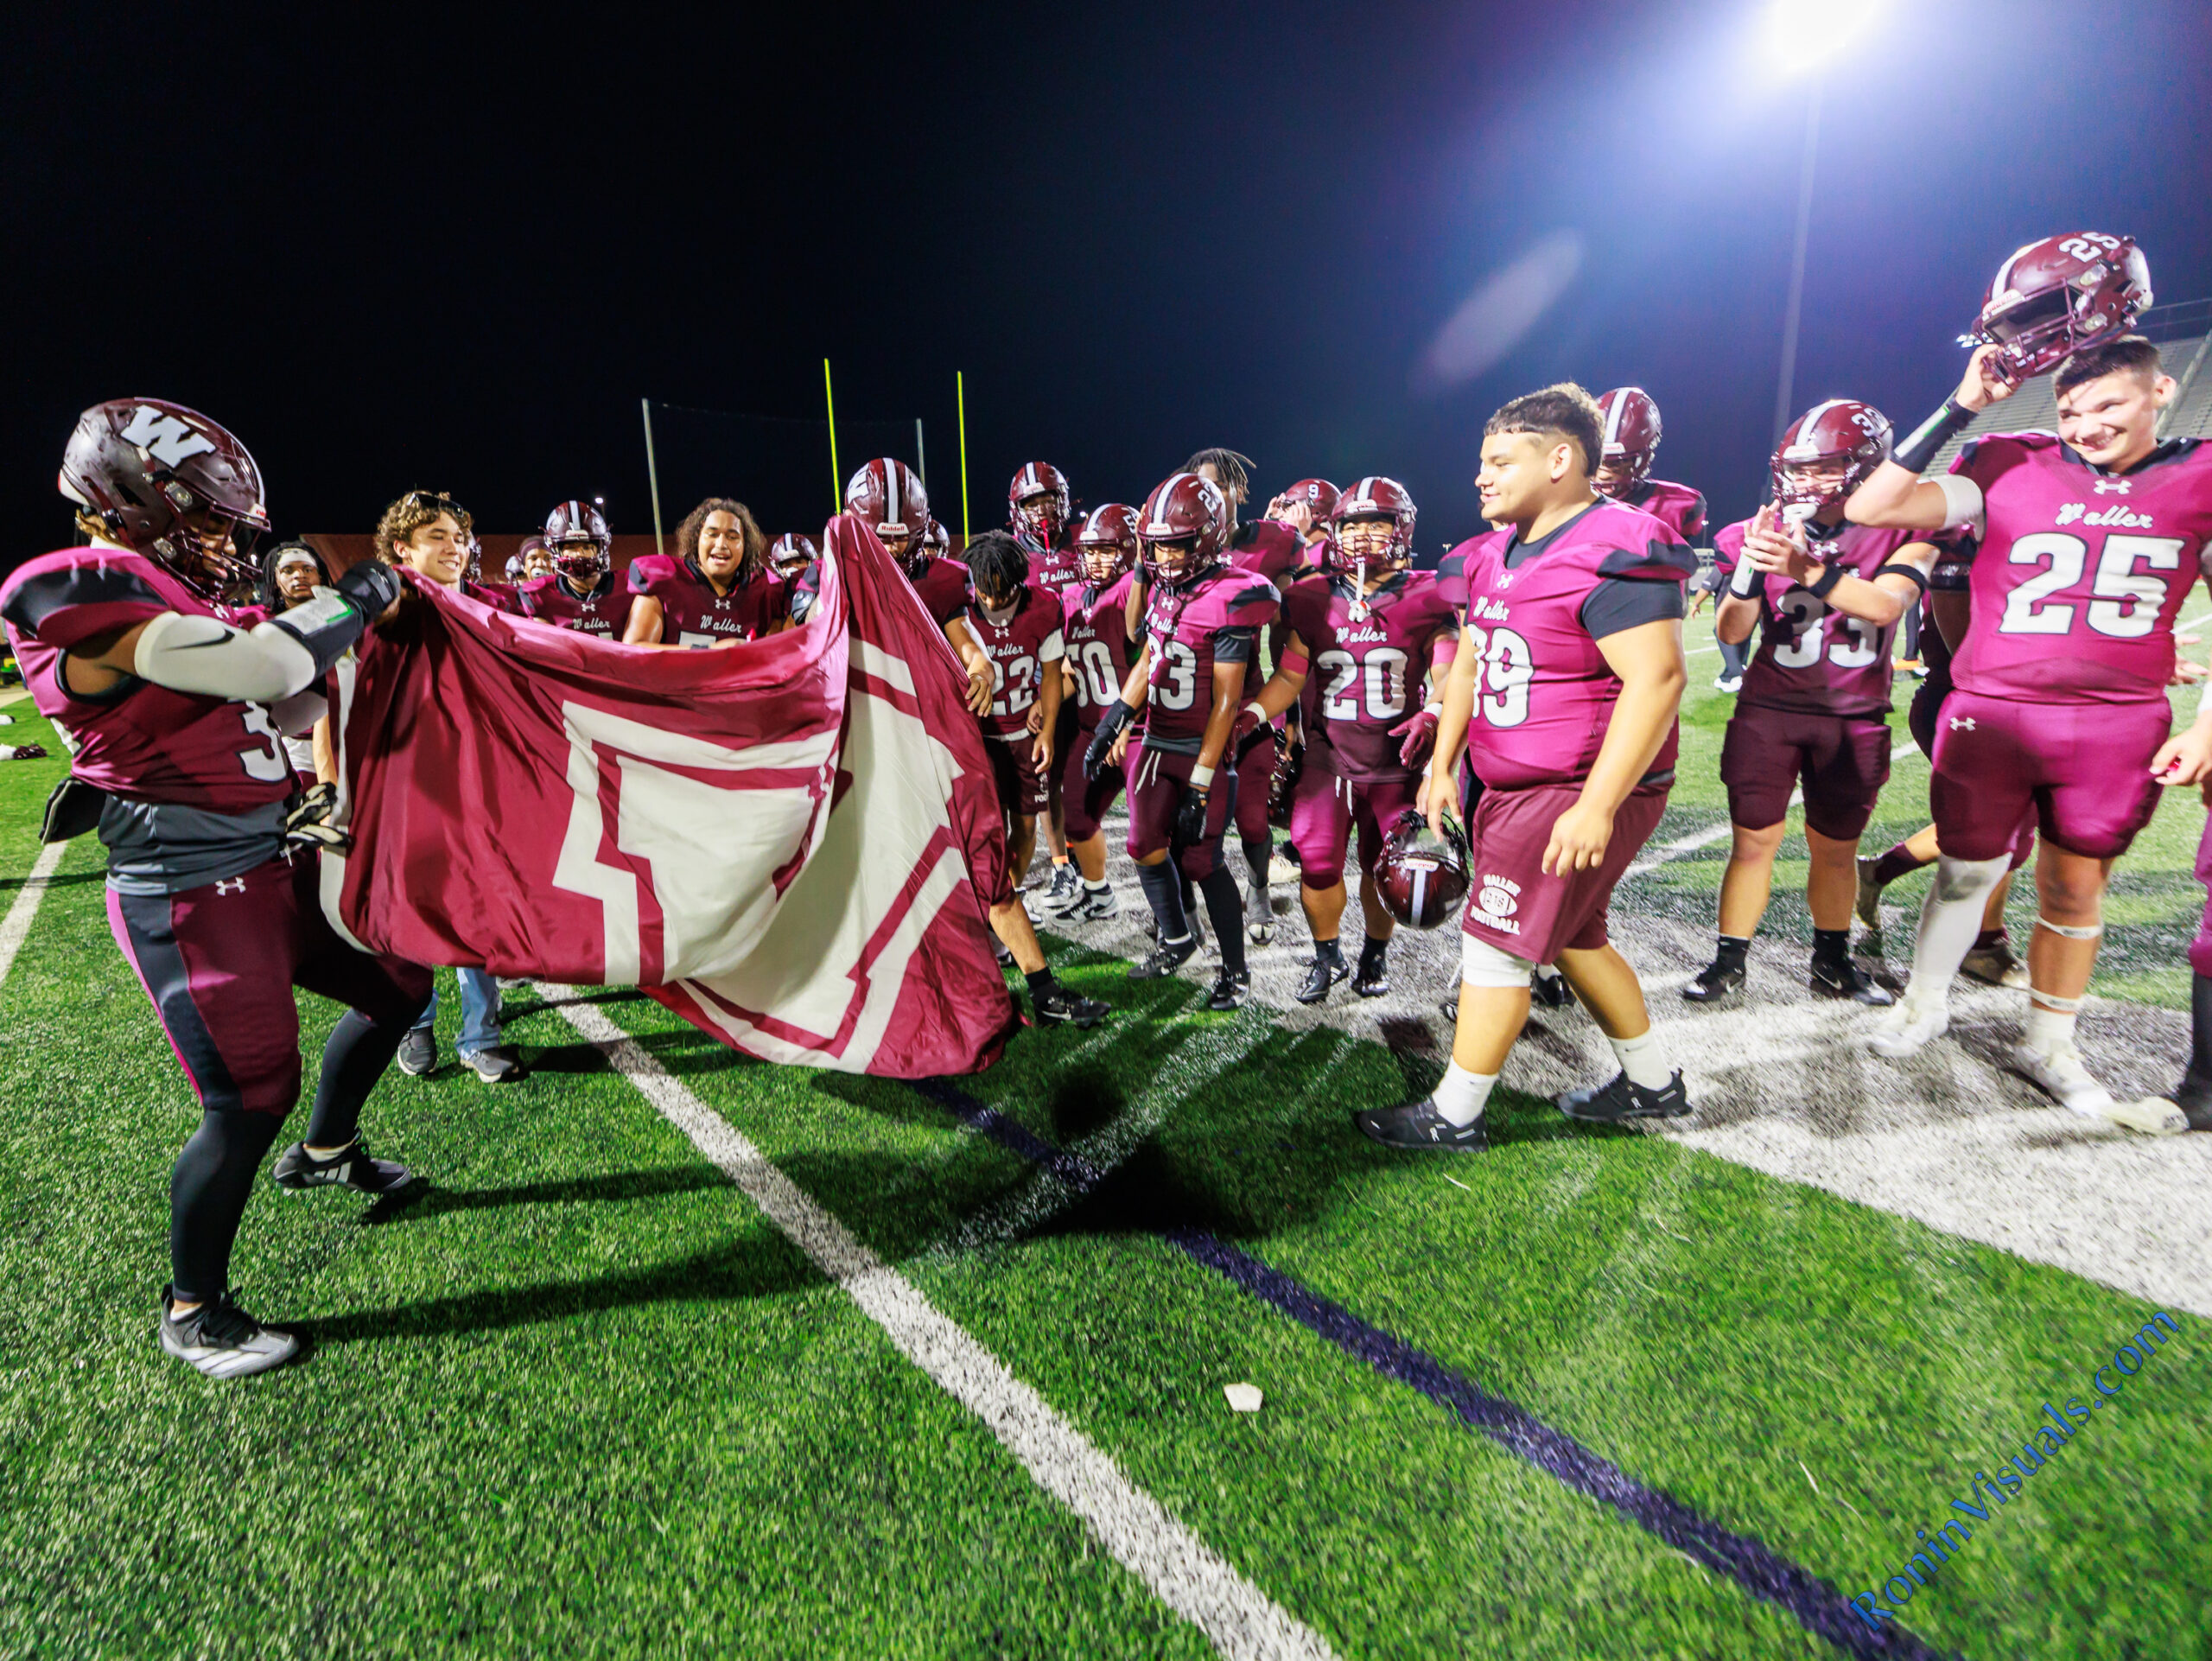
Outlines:
<svg viewBox="0 0 2212 1661"><path fill-rule="evenodd" d="M1613 816L1606 858L1593 869L1544 876L1551 827L1582 796L1582 785L1491 785L1475 803L1475 823L1467 827L1473 889L1460 927L1528 962L1557 962L1562 951L1597 951L1606 944L1613 885L1659 829L1666 794L1668 785L1630 792Z"/></svg>

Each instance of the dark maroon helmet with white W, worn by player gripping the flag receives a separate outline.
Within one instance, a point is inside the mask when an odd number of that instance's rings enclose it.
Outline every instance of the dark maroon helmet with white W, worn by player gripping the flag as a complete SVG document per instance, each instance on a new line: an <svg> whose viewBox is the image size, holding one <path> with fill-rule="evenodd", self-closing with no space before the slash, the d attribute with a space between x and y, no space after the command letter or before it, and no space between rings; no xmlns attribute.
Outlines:
<svg viewBox="0 0 2212 1661"><path fill-rule="evenodd" d="M206 599L259 579L254 535L270 529L261 469L237 438L164 398L111 398L77 416L62 451L62 495L111 542L159 560Z"/></svg>

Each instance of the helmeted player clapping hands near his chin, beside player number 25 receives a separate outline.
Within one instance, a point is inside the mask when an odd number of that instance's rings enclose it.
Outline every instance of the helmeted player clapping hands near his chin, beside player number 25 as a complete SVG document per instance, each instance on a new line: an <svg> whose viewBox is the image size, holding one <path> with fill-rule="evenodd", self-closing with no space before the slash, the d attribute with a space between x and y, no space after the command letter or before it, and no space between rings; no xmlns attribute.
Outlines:
<svg viewBox="0 0 2212 1661"><path fill-rule="evenodd" d="M1721 940L1712 964L1681 989L1697 1004L1736 995L1752 931L1765 916L1792 787L1805 792L1812 869L1812 989L1860 1004L1889 993L1851 962L1858 836L1889 779L1889 650L1918 606L1936 544L1916 531L1874 531L1843 518L1843 500L1889 453L1889 420L1856 398L1827 398L1774 447L1774 502L1721 531L1734 577L1714 633L1759 652L1743 675L1721 783L1734 845L1721 878Z"/></svg>

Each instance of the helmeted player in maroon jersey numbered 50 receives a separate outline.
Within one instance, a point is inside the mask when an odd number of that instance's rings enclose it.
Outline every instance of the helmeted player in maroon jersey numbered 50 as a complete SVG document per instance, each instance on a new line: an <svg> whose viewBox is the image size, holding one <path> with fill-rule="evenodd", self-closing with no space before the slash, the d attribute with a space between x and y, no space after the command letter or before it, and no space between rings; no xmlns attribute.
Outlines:
<svg viewBox="0 0 2212 1661"><path fill-rule="evenodd" d="M1137 566L1137 509L1104 502L1084 515L1075 531L1084 555L1082 582L1060 591L1062 644L1066 655L1066 703L1075 708L1075 741L1066 745L1060 772L1060 801L1066 805L1068 854L1079 871L1079 887L1057 907L1048 905L1053 922L1097 922L1117 916L1113 885L1106 880L1106 832L1099 821L1121 794L1121 761L1128 748L1124 732L1106 756L1097 779L1084 774L1084 752L1099 717L1121 694L1128 679L1128 593Z"/></svg>

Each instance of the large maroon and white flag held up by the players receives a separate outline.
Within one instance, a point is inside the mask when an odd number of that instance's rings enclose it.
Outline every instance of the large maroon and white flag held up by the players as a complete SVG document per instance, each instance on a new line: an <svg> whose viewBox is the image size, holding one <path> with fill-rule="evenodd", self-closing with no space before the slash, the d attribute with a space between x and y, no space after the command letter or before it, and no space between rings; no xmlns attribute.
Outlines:
<svg viewBox="0 0 2212 1661"><path fill-rule="evenodd" d="M416 584L416 626L338 670L332 924L418 964L637 984L768 1062L989 1066L1015 1015L967 677L852 515L821 582L803 628L697 652Z"/></svg>

